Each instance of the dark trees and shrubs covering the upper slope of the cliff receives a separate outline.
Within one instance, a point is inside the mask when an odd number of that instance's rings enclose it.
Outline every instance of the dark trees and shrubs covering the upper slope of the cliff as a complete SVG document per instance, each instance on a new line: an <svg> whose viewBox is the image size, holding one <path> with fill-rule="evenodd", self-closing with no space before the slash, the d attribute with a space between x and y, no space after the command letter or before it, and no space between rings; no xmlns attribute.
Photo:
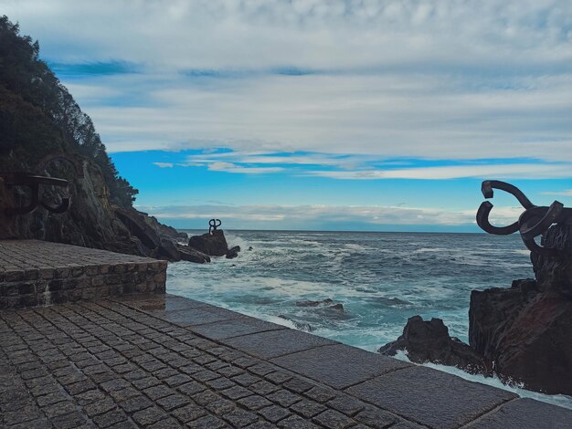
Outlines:
<svg viewBox="0 0 572 429"><path fill-rule="evenodd" d="M39 44L0 17L0 171L31 171L50 152L76 153L97 164L111 204L128 208L138 191L111 162L90 117L48 65Z"/></svg>

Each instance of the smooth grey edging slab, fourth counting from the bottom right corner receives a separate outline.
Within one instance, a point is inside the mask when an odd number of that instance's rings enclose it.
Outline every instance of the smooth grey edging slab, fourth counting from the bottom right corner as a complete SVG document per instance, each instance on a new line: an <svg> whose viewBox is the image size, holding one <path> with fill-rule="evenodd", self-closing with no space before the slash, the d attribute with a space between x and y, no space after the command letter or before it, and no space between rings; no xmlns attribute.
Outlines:
<svg viewBox="0 0 572 429"><path fill-rule="evenodd" d="M226 344L241 351L246 351L263 359L305 351L316 347L335 344L332 340L306 334L299 330L270 330L257 334L245 335L224 340Z"/></svg>

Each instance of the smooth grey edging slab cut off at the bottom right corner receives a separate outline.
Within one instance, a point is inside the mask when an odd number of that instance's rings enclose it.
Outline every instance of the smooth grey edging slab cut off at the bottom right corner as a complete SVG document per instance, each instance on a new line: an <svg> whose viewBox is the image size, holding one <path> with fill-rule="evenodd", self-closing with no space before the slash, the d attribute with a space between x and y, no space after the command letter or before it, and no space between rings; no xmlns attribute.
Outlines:
<svg viewBox="0 0 572 429"><path fill-rule="evenodd" d="M469 424L471 429L524 429L572 427L572 411L549 403L539 403L533 399L517 399L505 403L493 413Z"/></svg>

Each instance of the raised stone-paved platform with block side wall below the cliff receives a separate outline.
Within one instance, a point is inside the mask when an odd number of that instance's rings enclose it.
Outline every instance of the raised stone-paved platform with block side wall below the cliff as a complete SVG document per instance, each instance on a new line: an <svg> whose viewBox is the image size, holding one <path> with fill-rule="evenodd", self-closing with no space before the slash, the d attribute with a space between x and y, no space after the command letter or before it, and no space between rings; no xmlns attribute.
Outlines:
<svg viewBox="0 0 572 429"><path fill-rule="evenodd" d="M166 261L37 240L0 241L0 309L164 293Z"/></svg>

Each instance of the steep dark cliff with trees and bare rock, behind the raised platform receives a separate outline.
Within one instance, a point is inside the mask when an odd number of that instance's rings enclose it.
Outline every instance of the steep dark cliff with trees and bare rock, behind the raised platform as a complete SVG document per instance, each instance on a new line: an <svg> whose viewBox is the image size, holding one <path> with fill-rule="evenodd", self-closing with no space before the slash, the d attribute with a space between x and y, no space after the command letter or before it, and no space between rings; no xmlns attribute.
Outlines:
<svg viewBox="0 0 572 429"><path fill-rule="evenodd" d="M60 159L43 162L54 152ZM30 201L26 186L7 186L9 172L68 180L67 191L42 186L40 201L56 206L68 192L69 210L55 214L39 204L29 214L6 214L6 208ZM37 238L177 259L166 248L181 237L134 210L135 194L119 176L90 117L39 59L38 43L20 36L18 26L0 16L0 239Z"/></svg>

